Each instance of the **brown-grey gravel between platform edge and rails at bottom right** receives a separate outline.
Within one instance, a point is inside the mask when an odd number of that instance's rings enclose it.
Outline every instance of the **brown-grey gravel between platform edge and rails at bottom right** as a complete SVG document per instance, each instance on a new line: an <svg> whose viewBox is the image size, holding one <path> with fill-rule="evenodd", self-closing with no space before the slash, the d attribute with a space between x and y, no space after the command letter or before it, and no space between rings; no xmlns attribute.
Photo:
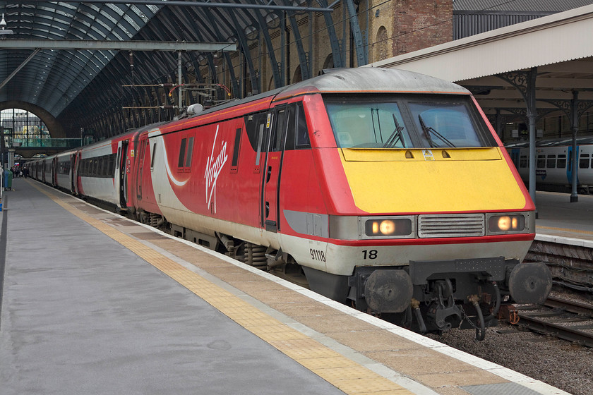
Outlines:
<svg viewBox="0 0 593 395"><path fill-rule="evenodd" d="M427 336L570 394L592 394L593 348L520 329L501 323L487 329L484 341L476 341L474 330L454 329L443 336Z"/></svg>

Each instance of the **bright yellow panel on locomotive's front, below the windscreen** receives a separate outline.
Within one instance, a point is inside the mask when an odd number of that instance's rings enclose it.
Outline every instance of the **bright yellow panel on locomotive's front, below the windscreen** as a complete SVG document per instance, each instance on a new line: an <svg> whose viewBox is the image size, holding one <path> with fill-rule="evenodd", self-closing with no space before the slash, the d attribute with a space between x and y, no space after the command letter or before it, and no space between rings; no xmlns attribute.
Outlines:
<svg viewBox="0 0 593 395"><path fill-rule="evenodd" d="M354 203L365 212L508 210L526 204L498 147L447 149L449 157L441 149L353 151L342 151L342 165Z"/></svg>

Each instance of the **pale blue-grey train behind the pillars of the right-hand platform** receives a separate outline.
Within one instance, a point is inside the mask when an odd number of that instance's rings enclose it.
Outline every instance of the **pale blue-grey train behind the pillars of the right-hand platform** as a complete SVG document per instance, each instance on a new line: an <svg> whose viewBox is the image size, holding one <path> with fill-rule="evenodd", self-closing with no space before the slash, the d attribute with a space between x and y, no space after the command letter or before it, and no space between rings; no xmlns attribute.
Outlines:
<svg viewBox="0 0 593 395"><path fill-rule="evenodd" d="M517 171L529 183L529 142L506 145ZM593 193L593 137L577 138L577 189ZM535 181L537 189L570 192L573 185L573 139L536 142Z"/></svg>

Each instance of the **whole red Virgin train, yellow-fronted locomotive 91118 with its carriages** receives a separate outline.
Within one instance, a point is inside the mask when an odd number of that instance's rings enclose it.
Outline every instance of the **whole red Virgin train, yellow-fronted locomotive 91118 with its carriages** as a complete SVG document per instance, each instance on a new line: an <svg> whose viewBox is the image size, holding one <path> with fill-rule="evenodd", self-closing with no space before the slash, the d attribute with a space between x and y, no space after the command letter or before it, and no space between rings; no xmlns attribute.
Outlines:
<svg viewBox="0 0 593 395"><path fill-rule="evenodd" d="M418 332L542 303L534 204L472 95L336 69L29 164L39 181Z"/></svg>

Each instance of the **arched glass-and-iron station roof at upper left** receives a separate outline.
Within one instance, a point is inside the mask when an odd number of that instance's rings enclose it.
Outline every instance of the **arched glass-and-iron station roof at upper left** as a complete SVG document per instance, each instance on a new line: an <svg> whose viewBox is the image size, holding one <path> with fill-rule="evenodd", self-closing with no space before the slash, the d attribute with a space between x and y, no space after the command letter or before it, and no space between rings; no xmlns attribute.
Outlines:
<svg viewBox="0 0 593 395"><path fill-rule="evenodd" d="M349 23L357 37L354 0L342 4L354 17ZM203 81L196 70L222 64L232 74L227 89L234 97L244 95L239 78L246 77L253 91L261 91L268 82L258 80L257 60L249 54L253 37L263 37L275 65L273 85L283 86L286 78L277 65L284 49L273 47L270 30L287 28L280 26L284 20L296 27L302 13L321 13L331 45L337 47L332 11L327 0L2 1L6 25L0 23L0 102L26 102L47 110L68 137L80 137L81 128L89 125L103 136L121 133L122 128L170 116L175 97L156 95L155 86L168 91L179 70L184 82L193 73L196 83L217 83ZM157 49L147 47L150 43ZM186 50L181 44L193 47ZM301 42L296 47L302 78L309 78L306 51ZM234 75L231 54L236 52L229 52L234 49L242 56L243 75ZM359 64L365 64L364 52L358 56ZM334 56L333 66L344 66L340 56ZM146 97L153 98L156 109L122 111L140 107Z"/></svg>

